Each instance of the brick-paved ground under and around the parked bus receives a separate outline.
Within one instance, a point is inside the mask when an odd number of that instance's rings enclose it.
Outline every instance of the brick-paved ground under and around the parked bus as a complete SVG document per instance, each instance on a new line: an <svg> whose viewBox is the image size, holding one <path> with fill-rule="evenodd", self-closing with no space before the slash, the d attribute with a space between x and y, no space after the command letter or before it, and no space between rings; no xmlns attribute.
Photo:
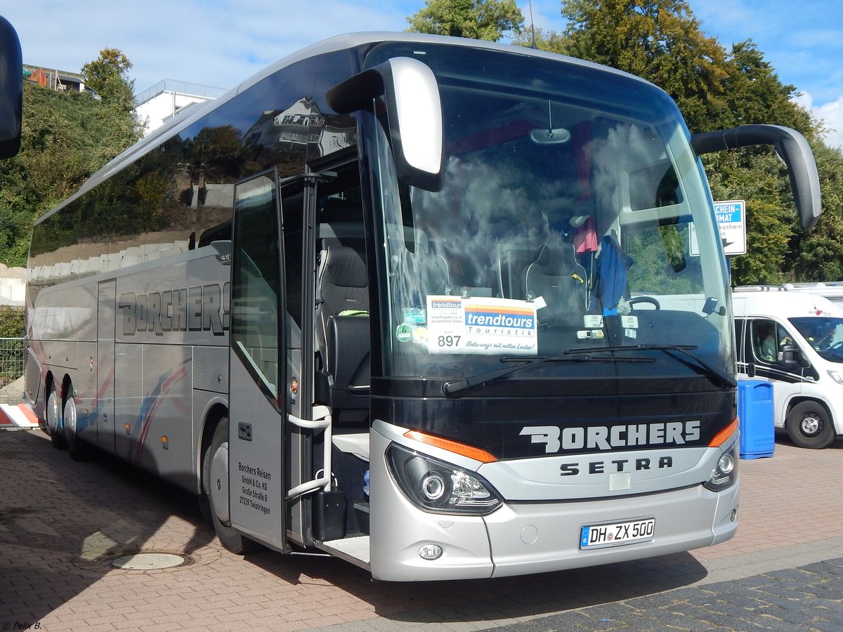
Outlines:
<svg viewBox="0 0 843 632"><path fill-rule="evenodd" d="M843 629L843 443L741 461L728 543L586 570L392 584L340 560L229 554L190 495L40 431L0 431L0 629ZM103 560L187 554L168 570ZM37 627L36 627L37 626Z"/></svg>

